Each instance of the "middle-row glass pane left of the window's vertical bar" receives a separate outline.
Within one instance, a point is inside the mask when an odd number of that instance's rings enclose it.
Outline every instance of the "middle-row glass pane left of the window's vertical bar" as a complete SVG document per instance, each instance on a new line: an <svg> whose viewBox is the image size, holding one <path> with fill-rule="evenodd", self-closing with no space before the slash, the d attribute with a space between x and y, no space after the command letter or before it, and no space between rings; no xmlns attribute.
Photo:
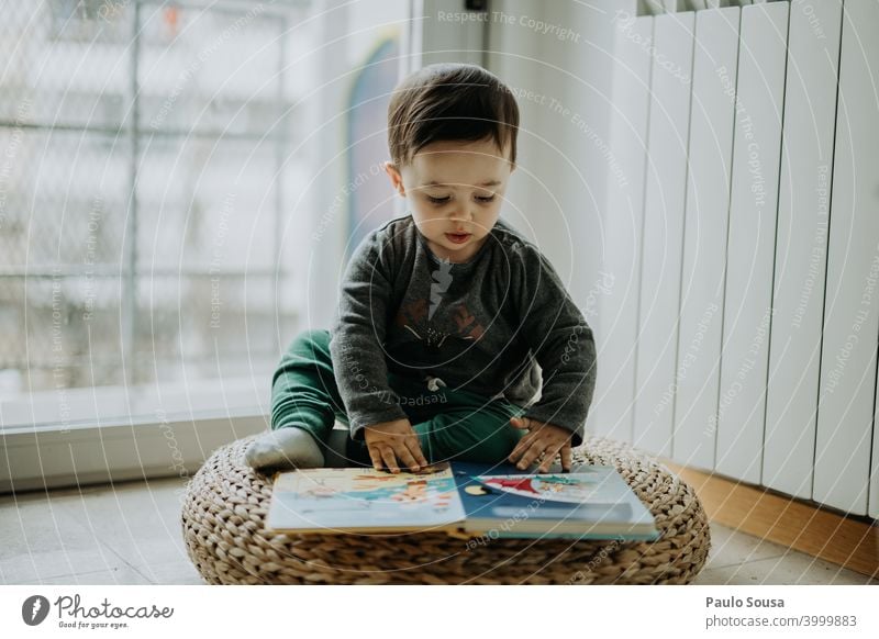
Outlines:
<svg viewBox="0 0 879 639"><path fill-rule="evenodd" d="M126 138L0 127L0 272L124 264Z"/></svg>

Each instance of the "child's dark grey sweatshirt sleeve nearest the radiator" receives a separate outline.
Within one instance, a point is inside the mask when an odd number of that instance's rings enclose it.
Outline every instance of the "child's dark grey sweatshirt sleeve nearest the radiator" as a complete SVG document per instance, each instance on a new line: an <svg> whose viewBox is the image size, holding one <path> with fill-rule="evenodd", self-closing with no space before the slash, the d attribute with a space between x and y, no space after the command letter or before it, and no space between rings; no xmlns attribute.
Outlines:
<svg viewBox="0 0 879 639"><path fill-rule="evenodd" d="M582 444L596 388L592 329L549 260L532 245L523 248L519 307L524 338L541 365L541 399L525 416L567 428Z"/></svg>

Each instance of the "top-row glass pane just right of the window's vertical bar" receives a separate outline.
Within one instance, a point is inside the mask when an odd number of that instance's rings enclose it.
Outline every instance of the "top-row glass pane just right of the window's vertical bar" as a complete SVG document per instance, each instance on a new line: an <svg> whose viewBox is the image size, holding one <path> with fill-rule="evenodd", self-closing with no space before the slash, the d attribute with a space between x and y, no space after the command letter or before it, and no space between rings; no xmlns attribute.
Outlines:
<svg viewBox="0 0 879 639"><path fill-rule="evenodd" d="M262 3L147 4L142 21L142 130L262 135L278 121L285 22L277 13Z"/></svg>

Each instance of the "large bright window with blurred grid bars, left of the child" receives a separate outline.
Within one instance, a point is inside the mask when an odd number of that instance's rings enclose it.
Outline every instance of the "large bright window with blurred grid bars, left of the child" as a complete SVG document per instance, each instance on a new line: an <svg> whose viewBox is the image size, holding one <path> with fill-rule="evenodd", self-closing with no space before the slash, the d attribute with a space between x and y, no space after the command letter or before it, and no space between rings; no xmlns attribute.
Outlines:
<svg viewBox="0 0 879 639"><path fill-rule="evenodd" d="M0 428L156 402L265 410L308 312L321 206L365 170L358 148L387 153L367 131L385 127L409 2L366 4L4 8ZM325 148L335 113L360 137ZM344 179L315 179L346 153ZM380 198L365 206L369 192L346 194L326 232L356 237L363 210L392 213Z"/></svg>

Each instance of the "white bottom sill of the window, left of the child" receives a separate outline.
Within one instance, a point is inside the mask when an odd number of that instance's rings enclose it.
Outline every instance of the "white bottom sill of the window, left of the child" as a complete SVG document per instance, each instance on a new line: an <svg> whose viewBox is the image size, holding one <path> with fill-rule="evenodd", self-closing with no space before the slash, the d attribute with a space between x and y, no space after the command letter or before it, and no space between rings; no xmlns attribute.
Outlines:
<svg viewBox="0 0 879 639"><path fill-rule="evenodd" d="M63 410L55 392L2 401L0 494L191 477L220 446L269 428L265 379L259 385L76 389ZM22 423L27 414L42 421Z"/></svg>

